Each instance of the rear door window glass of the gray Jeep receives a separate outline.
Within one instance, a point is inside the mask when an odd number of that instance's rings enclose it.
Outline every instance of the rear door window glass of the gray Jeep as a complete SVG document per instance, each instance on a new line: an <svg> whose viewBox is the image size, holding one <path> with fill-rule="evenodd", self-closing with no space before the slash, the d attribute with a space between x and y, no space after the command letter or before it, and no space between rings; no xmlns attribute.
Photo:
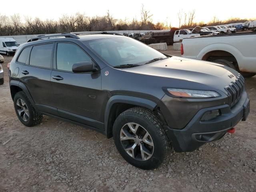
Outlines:
<svg viewBox="0 0 256 192"><path fill-rule="evenodd" d="M30 65L51 68L53 44L43 44L33 46L30 54Z"/></svg>

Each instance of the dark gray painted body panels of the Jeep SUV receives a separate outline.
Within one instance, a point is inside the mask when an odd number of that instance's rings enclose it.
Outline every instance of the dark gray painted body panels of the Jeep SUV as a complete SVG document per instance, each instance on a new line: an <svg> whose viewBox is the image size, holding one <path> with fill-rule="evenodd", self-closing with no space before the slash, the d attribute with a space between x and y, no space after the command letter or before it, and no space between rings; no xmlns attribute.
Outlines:
<svg viewBox="0 0 256 192"><path fill-rule="evenodd" d="M182 129L202 108L223 105L228 102L227 86L238 73L219 64L171 57L144 66L116 69L108 66L92 50L86 40L100 38L127 38L114 35L87 35L80 39L56 38L22 44L10 64L27 70L20 73L20 82L29 90L37 108L46 113L107 132L108 114L114 103L136 104L153 110L160 108L168 126ZM16 58L22 48L48 42L70 42L80 46L97 64L99 72L76 74L56 70L55 56L53 69L43 69L18 64ZM55 46L56 51L56 46ZM105 72L108 71L108 76ZM234 78L228 75L233 74ZM52 76L60 76L56 80ZM10 85L15 77L11 75ZM163 87L215 90L222 96L209 99L184 99L167 96ZM56 112L58 109L58 112ZM182 121L182 122L181 122ZM105 127L105 128L104 128Z"/></svg>

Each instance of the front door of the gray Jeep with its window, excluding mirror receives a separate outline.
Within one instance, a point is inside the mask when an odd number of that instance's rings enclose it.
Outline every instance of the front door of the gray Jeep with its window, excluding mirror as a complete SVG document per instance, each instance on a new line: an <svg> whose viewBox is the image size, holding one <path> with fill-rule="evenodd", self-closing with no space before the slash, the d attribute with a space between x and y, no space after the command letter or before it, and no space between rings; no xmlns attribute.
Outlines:
<svg viewBox="0 0 256 192"><path fill-rule="evenodd" d="M103 129L102 103L106 93L101 91L100 72L73 73L74 63L93 62L78 45L59 42L54 56L56 66L51 83L56 108L61 117Z"/></svg>

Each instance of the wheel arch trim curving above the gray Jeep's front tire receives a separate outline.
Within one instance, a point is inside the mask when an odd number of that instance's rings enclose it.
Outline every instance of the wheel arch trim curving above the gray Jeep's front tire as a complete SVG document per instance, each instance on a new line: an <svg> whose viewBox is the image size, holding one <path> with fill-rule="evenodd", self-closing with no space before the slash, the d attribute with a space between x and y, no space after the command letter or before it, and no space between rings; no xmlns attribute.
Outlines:
<svg viewBox="0 0 256 192"><path fill-rule="evenodd" d="M156 105L157 104L155 102L144 98L122 95L112 96L108 100L104 115L104 129L106 136L108 138L112 137L112 128L114 122L118 115L124 112L125 110L139 106L153 111Z"/></svg>

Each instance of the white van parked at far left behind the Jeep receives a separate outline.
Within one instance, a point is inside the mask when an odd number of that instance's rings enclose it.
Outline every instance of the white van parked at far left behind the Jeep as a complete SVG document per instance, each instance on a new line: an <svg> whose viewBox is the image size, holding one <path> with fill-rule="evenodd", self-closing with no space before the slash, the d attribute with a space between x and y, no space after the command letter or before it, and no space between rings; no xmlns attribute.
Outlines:
<svg viewBox="0 0 256 192"><path fill-rule="evenodd" d="M0 38L0 53L10 56L18 49L19 44L13 38Z"/></svg>

